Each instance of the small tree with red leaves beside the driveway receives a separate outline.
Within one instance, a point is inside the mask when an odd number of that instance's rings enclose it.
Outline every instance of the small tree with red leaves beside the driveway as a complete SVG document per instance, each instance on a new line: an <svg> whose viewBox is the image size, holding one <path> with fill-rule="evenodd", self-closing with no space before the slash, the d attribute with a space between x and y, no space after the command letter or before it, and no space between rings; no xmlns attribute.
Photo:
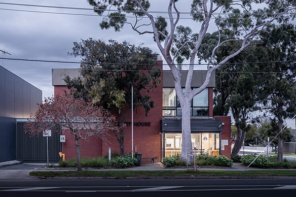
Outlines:
<svg viewBox="0 0 296 197"><path fill-rule="evenodd" d="M56 128L74 136L78 171L81 171L78 139L87 141L91 136L98 136L106 140L110 131L118 129L115 117L108 110L71 95L44 99L44 103L38 104L37 112L28 119L25 132L39 136L45 130L59 132Z"/></svg>

